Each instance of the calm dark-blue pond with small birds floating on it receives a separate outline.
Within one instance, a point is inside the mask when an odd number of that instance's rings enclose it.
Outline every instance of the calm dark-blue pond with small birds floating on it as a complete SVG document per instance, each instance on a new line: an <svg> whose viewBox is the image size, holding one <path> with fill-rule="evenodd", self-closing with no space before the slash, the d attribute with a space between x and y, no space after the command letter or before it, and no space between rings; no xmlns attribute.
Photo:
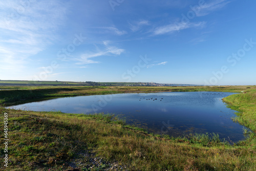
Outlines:
<svg viewBox="0 0 256 171"><path fill-rule="evenodd" d="M216 133L237 142L245 138L243 126L231 120L236 116L222 98L234 93L164 92L114 94L57 98L11 106L30 111L63 113L114 113L126 123L149 132L183 136L190 133Z"/></svg>

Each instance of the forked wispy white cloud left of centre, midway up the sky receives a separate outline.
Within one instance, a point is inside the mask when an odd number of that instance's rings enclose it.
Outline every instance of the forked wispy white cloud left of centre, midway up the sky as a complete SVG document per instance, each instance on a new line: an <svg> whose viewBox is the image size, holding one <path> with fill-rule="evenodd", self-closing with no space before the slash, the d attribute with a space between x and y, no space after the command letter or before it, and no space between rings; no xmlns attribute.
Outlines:
<svg viewBox="0 0 256 171"><path fill-rule="evenodd" d="M111 46L110 43L111 42L108 40L103 41L102 42L102 44L104 45L103 49L97 48L96 52L84 53L79 58L75 58L75 60L78 61L76 64L82 65L82 64L90 64L90 63L99 63L99 61L92 60L91 58L99 57L99 56L116 56L124 52L124 49Z"/></svg>

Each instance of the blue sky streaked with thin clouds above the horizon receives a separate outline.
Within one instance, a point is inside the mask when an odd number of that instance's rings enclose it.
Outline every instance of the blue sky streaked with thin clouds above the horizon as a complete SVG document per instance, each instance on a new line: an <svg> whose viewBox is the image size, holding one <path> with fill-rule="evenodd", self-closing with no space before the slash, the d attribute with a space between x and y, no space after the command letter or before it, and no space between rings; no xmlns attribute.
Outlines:
<svg viewBox="0 0 256 171"><path fill-rule="evenodd" d="M0 2L0 79L256 84L256 1Z"/></svg>

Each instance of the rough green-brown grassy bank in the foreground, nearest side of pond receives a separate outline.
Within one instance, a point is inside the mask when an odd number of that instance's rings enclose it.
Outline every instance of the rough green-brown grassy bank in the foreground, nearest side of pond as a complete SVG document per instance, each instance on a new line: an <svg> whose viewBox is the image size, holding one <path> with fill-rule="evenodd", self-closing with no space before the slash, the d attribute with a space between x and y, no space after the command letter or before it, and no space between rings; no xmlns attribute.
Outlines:
<svg viewBox="0 0 256 171"><path fill-rule="evenodd" d="M90 170L89 154L104 159L93 170L111 168L105 164L108 161L117 161L120 167L125 165L128 170L256 168L252 143L231 146L221 142L218 136L210 140L202 135L189 140L166 139L127 127L111 115L25 112L3 108L0 111L8 113L9 118L9 170L67 170L71 166ZM1 149L1 163L3 155Z"/></svg>

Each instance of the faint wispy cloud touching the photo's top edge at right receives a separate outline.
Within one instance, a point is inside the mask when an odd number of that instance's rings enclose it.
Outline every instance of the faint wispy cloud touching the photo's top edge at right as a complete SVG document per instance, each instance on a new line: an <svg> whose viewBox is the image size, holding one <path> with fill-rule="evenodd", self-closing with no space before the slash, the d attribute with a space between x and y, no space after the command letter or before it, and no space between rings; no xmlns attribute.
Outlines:
<svg viewBox="0 0 256 171"><path fill-rule="evenodd" d="M229 3L230 1L227 1L227 0L210 1L209 3L205 3L195 8L194 12L196 13L197 16L205 16L213 11L216 11L225 7Z"/></svg>

